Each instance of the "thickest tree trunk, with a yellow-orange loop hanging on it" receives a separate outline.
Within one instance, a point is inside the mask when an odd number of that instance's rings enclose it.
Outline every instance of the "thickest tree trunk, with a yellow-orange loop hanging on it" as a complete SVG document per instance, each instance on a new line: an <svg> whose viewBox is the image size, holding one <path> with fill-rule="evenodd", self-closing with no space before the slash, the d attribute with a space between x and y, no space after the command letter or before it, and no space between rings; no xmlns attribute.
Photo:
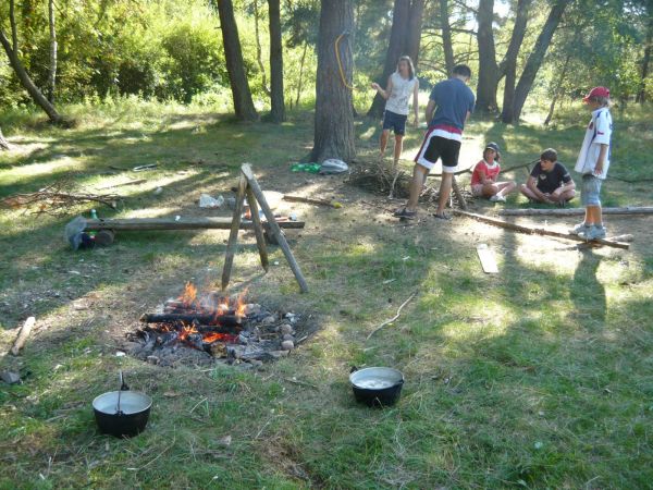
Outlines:
<svg viewBox="0 0 653 490"><path fill-rule="evenodd" d="M318 38L318 73L316 83L315 146L311 161L322 162L328 158L352 161L356 156L354 145L354 117L352 114L353 57L350 36L354 32L354 10L350 0L322 0ZM341 77L335 58L335 41L340 42L343 74Z"/></svg>

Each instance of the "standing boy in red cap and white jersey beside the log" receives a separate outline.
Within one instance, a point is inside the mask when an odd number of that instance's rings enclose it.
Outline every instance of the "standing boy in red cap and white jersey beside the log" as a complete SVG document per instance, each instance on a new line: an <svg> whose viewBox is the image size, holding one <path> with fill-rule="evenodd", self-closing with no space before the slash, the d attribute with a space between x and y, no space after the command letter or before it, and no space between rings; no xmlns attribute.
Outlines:
<svg viewBox="0 0 653 490"><path fill-rule="evenodd" d="M605 237L600 194L601 184L607 176L609 167L612 137L609 90L605 87L594 87L582 101L592 111L592 119L586 131L575 170L582 174L580 198L586 208L586 217L582 223L571 230L571 233L586 240L596 240Z"/></svg>

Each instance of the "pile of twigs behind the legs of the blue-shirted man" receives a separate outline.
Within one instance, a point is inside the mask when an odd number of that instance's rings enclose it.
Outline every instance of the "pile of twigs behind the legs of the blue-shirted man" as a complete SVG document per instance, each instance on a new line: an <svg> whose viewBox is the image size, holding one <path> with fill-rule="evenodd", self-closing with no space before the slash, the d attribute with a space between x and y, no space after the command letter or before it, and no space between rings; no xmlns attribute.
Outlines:
<svg viewBox="0 0 653 490"><path fill-rule="evenodd" d="M372 162L372 161L359 161L358 164L352 170L346 182L349 185L362 188L373 194L387 196L392 181L394 180L394 170L387 162ZM397 181L394 187L394 196L398 198L408 198L410 194L410 182L412 175L408 172L399 170ZM422 189L419 201L423 204L438 204L440 197L440 181L435 181L436 186L429 186L428 182ZM471 192L467 188L460 188L460 194L467 201L473 200ZM452 193L454 206L461 208L463 206L458 203L456 193Z"/></svg>

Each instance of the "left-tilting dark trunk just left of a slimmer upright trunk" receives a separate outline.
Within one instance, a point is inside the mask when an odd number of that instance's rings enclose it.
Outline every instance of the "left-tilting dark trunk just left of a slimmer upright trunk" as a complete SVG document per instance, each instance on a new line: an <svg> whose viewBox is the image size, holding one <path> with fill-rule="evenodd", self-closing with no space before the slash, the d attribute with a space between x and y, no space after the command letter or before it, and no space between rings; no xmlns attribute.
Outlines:
<svg viewBox="0 0 653 490"><path fill-rule="evenodd" d="M220 16L224 59L234 98L236 118L242 121L258 121L258 113L254 107L251 91L249 90L249 84L245 75L243 51L241 50L238 26L234 17L232 0L218 0L218 15Z"/></svg>

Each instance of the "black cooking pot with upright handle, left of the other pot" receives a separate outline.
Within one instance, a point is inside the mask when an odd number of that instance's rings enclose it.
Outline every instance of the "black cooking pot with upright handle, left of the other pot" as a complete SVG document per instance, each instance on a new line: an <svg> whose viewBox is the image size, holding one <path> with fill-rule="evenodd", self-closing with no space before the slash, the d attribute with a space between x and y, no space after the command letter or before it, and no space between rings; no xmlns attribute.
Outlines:
<svg viewBox="0 0 653 490"><path fill-rule="evenodd" d="M145 393L130 391L120 371L119 391L101 394L93 401L98 428L116 438L131 438L145 430L152 399Z"/></svg>

